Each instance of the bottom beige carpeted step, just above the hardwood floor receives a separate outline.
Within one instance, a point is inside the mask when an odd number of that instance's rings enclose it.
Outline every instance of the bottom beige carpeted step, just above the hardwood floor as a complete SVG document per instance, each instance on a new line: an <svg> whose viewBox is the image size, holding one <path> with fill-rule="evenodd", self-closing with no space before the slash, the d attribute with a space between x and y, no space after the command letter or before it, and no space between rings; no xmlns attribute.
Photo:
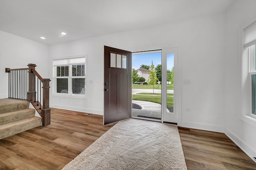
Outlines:
<svg viewBox="0 0 256 170"><path fill-rule="evenodd" d="M27 131L41 125L41 117L30 117L20 121L0 125L0 139Z"/></svg>

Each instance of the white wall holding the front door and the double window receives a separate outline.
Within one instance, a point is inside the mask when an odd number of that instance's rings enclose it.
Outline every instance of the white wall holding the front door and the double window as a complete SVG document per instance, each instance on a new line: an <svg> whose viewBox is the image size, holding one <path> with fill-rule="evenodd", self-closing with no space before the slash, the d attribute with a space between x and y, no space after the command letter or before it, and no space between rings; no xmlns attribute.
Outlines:
<svg viewBox="0 0 256 170"><path fill-rule="evenodd" d="M179 76L191 79L190 85L180 87L182 125L224 131L224 13L50 45L50 73L52 59L87 54L87 80L93 80L87 87L87 99L58 97L51 93L51 107L103 114L104 45L128 51L178 45L182 48L182 74ZM185 108L190 108L190 112L185 112Z"/></svg>

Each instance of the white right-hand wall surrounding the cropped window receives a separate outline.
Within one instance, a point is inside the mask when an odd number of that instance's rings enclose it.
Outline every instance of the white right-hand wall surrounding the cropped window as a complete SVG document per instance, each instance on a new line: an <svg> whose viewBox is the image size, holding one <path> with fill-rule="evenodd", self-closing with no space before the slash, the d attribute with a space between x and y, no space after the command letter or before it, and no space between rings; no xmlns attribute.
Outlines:
<svg viewBox="0 0 256 170"><path fill-rule="evenodd" d="M242 56L240 29L248 20L256 20L256 1L237 0L226 12L225 133L249 156L256 157L256 122L240 119Z"/></svg>

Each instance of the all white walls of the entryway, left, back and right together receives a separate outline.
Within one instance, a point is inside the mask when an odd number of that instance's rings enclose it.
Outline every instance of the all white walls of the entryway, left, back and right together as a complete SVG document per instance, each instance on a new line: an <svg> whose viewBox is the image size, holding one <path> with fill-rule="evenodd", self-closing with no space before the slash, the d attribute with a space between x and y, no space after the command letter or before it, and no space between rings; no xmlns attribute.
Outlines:
<svg viewBox="0 0 256 170"><path fill-rule="evenodd" d="M87 87L88 98L60 98L51 93L50 106L103 114L104 45L129 51L178 45L182 48L182 74L179 76L191 79L191 85L181 87L181 125L225 131L247 154L256 156L256 127L239 119L240 96L237 93L241 90L239 29L256 16L254 6L254 0L238 0L226 14L50 45L49 60L48 45L0 31L0 77L3 78L0 97L8 97L6 67L25 68L28 63L34 63L43 78L52 78L52 59L87 54L87 78L93 80ZM47 64L48 70L44 69ZM191 111L185 112L185 108Z"/></svg>

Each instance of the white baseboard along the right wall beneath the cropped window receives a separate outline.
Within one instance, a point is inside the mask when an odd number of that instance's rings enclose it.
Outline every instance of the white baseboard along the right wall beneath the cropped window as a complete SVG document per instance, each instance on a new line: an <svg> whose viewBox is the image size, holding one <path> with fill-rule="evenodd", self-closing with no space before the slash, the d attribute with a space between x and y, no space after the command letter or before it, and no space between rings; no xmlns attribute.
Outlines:
<svg viewBox="0 0 256 170"><path fill-rule="evenodd" d="M244 151L254 162L256 160L253 157L256 157L256 151L253 150L250 146L248 146L246 143L244 143L241 139L239 139L236 135L234 135L230 130L225 128L225 135L233 141L240 149Z"/></svg>

